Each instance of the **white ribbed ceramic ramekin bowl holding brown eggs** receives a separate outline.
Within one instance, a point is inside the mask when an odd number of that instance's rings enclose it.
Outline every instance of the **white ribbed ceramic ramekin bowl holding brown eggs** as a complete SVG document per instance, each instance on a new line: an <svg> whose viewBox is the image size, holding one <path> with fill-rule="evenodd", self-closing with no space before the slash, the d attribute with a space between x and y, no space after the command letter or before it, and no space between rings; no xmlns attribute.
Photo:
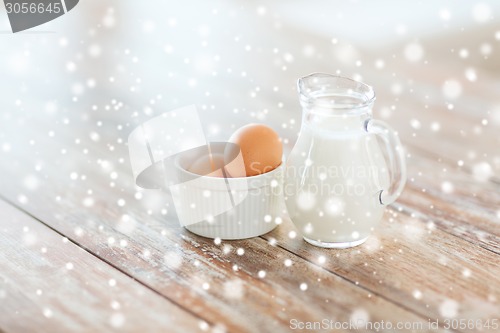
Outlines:
<svg viewBox="0 0 500 333"><path fill-rule="evenodd" d="M225 146L211 143L211 152L223 153ZM274 229L284 210L284 163L253 177L219 178L187 171L202 154L206 148L180 154L174 163L180 184L171 192L181 225L220 239L256 237Z"/></svg>

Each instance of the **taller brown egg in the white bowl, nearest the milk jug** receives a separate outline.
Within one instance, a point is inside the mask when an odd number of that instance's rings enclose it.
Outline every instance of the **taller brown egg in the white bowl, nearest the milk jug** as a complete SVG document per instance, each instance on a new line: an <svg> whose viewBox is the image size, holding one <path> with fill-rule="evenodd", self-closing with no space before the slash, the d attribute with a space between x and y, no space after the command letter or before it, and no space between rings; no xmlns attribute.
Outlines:
<svg viewBox="0 0 500 333"><path fill-rule="evenodd" d="M235 143L241 150L243 167L231 163L234 152L225 152L226 171L231 177L250 177L274 170L281 164L283 145L272 128L262 124L248 124L231 135L229 142ZM231 156L232 155L232 156Z"/></svg>

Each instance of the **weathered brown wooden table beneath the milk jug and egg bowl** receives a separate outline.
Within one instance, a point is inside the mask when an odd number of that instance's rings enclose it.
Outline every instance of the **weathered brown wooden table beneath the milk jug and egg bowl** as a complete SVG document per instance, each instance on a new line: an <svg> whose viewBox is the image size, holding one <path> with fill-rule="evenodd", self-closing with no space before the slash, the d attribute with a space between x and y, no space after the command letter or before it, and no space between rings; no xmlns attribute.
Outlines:
<svg viewBox="0 0 500 333"><path fill-rule="evenodd" d="M211 30L176 9L175 24L148 12L149 36L142 21L108 29L89 15L96 35L75 28L67 45L61 33L5 38L4 63L30 55L24 72L10 66L2 78L0 331L287 332L322 320L349 331L362 319L391 322L382 332L476 332L477 321L500 332L499 26L450 23L422 37L425 54L411 62L410 36L363 47L272 7L220 6ZM126 9L115 8L122 20ZM478 40L491 56L478 55ZM100 57L86 53L92 43ZM464 78L468 67L477 81ZM261 237L215 244L179 226L168 193L134 184L126 139L153 115L195 103L219 140L265 122L288 153L300 128L295 80L337 69L375 87L374 115L408 153L406 189L364 245L310 246L286 216ZM451 79L462 93L443 97Z"/></svg>

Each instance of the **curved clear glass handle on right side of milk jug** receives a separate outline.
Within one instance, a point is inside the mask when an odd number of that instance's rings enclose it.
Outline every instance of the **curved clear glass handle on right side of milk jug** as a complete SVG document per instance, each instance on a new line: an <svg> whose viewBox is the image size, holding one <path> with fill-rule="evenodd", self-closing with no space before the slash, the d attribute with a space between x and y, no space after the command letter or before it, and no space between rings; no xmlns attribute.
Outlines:
<svg viewBox="0 0 500 333"><path fill-rule="evenodd" d="M381 205L393 203L403 191L406 183L405 153L398 134L385 122L368 119L365 122L365 130L380 137L385 143L388 156L388 172L390 178L389 188L380 190L379 201Z"/></svg>

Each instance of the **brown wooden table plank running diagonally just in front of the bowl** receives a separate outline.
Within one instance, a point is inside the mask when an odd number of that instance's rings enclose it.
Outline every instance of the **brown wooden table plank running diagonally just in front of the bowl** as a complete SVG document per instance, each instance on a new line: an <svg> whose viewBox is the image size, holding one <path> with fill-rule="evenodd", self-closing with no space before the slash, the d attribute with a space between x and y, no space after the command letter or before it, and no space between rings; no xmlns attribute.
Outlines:
<svg viewBox="0 0 500 333"><path fill-rule="evenodd" d="M16 172L21 170L19 164ZM45 193L67 188L57 177L60 172L46 172L51 182L50 188L44 187ZM353 313L367 313L373 321L427 321L262 240L216 245L194 236L182 230L175 219L148 215L139 204L133 204L130 192L120 195L130 203L126 213L136 225L123 233L120 217L124 211L116 209L116 200L110 200L114 194L107 190L102 176L90 169L87 176L95 180L92 209L80 208L76 189L66 192L59 202L53 195L31 196L30 204L24 207L135 279L230 331L287 331L294 318L348 321ZM13 197L9 192L3 194ZM75 235L77 229L81 232ZM126 241L125 246L122 241ZM245 254L238 255L237 248ZM286 259L292 260L290 267L285 266ZM264 278L260 271L266 272ZM302 283L307 284L307 291L300 289Z"/></svg>

